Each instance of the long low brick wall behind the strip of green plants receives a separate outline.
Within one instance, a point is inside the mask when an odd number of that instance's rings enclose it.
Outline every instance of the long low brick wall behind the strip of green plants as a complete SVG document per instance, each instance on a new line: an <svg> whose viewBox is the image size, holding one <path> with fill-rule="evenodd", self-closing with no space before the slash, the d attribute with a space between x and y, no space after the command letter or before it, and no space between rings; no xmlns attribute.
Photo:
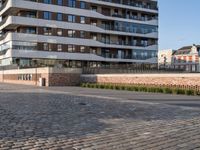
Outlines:
<svg viewBox="0 0 200 150"><path fill-rule="evenodd" d="M81 81L89 83L181 85L200 87L200 74L82 75Z"/></svg>

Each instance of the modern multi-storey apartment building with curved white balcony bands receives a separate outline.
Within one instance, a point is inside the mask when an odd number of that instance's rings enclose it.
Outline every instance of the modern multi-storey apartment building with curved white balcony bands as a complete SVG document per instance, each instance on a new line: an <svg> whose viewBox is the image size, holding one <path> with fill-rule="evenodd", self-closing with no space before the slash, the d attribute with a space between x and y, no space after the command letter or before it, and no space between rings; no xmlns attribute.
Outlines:
<svg viewBox="0 0 200 150"><path fill-rule="evenodd" d="M157 0L1 0L0 65L157 63Z"/></svg>

